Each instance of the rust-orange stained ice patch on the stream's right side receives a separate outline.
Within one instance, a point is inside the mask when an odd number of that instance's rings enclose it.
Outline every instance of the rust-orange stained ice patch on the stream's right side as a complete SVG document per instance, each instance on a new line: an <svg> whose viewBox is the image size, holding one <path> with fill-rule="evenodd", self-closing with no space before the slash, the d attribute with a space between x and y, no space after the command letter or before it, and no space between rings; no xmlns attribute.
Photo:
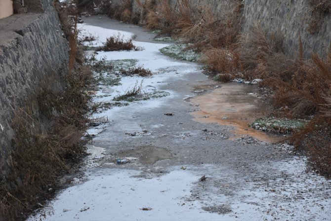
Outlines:
<svg viewBox="0 0 331 221"><path fill-rule="evenodd" d="M222 84L211 93L194 97L191 102L199 104L201 111L191 114L202 123L218 123L233 126L236 135L250 135L257 140L270 143L281 140L262 131L248 127L256 118L263 116L265 105L257 96L257 88L235 82Z"/></svg>

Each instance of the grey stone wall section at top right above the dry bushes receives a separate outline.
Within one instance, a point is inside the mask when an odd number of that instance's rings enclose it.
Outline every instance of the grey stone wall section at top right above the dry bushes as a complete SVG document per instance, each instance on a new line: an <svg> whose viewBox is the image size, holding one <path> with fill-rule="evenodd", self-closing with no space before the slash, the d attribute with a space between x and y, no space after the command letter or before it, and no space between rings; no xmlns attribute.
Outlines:
<svg viewBox="0 0 331 221"><path fill-rule="evenodd" d="M308 31L312 19L316 18L307 0L246 0L243 33L249 33L256 24L269 34L281 32L289 57L298 55L301 35L305 57L309 57L311 51L323 55L331 42L331 14L323 15L321 28L315 34Z"/></svg>

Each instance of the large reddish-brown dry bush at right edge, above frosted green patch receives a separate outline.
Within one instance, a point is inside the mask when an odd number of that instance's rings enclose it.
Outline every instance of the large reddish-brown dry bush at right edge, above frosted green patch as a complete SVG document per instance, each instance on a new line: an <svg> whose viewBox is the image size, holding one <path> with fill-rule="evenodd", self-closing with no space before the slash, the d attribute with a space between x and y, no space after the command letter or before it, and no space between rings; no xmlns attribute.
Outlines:
<svg viewBox="0 0 331 221"><path fill-rule="evenodd" d="M322 111L328 111L331 58L322 60L313 54L309 60L294 62L290 69L293 72L290 77L275 77L275 83L269 83L277 94L276 104L288 106L293 115L321 115Z"/></svg>

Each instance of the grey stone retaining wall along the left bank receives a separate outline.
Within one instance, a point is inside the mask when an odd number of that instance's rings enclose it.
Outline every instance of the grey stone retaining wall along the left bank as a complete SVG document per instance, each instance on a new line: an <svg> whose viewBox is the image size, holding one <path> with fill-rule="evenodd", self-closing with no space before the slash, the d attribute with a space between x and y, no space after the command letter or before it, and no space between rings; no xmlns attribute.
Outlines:
<svg viewBox="0 0 331 221"><path fill-rule="evenodd" d="M68 46L58 15L50 1L45 10L0 20L0 182L10 165L15 111L31 106L37 112L34 101L41 90L61 90L59 73L67 73ZM41 132L46 129L46 123L40 126Z"/></svg>

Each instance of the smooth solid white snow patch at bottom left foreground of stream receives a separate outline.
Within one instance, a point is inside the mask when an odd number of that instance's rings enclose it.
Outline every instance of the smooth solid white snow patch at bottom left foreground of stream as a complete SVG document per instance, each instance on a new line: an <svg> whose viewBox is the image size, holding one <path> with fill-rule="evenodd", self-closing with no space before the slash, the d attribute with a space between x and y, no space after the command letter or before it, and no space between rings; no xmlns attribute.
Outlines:
<svg viewBox="0 0 331 221"><path fill-rule="evenodd" d="M143 175L144 176L144 175ZM135 170L98 170L87 182L61 192L46 209L48 221L169 221L219 220L197 201L187 201L199 177L189 171L171 171L142 178ZM33 220L33 219L31 219ZM30 220L30 221L31 221Z"/></svg>

